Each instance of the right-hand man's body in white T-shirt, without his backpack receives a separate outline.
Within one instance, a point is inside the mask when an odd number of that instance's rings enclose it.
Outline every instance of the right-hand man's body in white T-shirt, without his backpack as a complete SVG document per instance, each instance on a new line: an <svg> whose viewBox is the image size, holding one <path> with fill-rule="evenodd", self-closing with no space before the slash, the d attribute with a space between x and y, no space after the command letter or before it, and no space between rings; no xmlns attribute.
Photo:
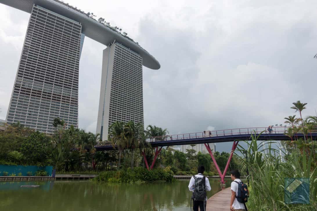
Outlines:
<svg viewBox="0 0 317 211"><path fill-rule="evenodd" d="M230 211L245 211L244 204L238 202L236 196L238 196L238 183L242 182L240 179L240 172L238 170L232 170L231 179L233 182L231 183L231 201L230 201ZM236 183L236 182L238 183Z"/></svg>

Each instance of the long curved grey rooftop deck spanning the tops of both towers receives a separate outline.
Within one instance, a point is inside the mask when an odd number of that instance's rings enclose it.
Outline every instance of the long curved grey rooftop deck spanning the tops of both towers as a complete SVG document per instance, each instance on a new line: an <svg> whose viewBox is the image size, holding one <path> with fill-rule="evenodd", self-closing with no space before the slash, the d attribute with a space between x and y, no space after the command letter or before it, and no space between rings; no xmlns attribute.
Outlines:
<svg viewBox="0 0 317 211"><path fill-rule="evenodd" d="M109 45L113 41L116 41L130 48L143 58L143 65L147 68L159 69L161 67L158 60L156 60L140 45L133 42L130 38L88 17L87 14L84 14L79 9L73 8L70 5L62 3L58 0L0 0L0 3L28 13L31 13L33 4L39 5L74 21L80 22L82 25L82 33L84 33L85 36L96 40L97 42L100 42L104 45Z"/></svg>

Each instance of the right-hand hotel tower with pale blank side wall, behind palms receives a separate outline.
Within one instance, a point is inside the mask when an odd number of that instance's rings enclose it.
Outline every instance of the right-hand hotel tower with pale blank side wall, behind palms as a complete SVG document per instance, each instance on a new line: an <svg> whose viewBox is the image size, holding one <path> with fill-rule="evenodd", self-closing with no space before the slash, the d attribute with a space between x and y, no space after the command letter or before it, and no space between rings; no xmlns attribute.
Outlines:
<svg viewBox="0 0 317 211"><path fill-rule="evenodd" d="M114 42L103 51L96 133L107 140L116 122L144 124L142 57Z"/></svg>

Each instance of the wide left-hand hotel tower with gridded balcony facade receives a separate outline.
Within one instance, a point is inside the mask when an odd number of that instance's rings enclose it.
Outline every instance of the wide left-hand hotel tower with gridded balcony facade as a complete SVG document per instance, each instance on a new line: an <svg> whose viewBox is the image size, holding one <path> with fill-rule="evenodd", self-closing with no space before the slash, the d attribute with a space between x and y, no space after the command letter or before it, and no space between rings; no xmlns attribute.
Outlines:
<svg viewBox="0 0 317 211"><path fill-rule="evenodd" d="M78 127L81 23L33 5L6 122L52 133L53 119Z"/></svg>

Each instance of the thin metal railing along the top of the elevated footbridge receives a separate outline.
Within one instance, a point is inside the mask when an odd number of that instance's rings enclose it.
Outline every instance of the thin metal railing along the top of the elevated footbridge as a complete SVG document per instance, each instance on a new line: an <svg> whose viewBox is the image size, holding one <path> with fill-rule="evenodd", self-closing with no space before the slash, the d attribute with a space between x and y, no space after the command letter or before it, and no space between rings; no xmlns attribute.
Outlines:
<svg viewBox="0 0 317 211"><path fill-rule="evenodd" d="M264 131L264 134L284 134L287 132L288 128L286 127L273 127L272 131L268 131L267 127L257 127L257 128L236 128L236 129L227 129L227 130L213 130L213 131L203 131L197 133L184 133L176 135L165 135L165 136L156 136L148 138L149 142L156 141L175 141L183 139L197 139L197 138L209 138L209 137L223 137L223 136L233 136L233 135L246 135L246 134L260 134ZM316 132L316 131L315 131Z"/></svg>

